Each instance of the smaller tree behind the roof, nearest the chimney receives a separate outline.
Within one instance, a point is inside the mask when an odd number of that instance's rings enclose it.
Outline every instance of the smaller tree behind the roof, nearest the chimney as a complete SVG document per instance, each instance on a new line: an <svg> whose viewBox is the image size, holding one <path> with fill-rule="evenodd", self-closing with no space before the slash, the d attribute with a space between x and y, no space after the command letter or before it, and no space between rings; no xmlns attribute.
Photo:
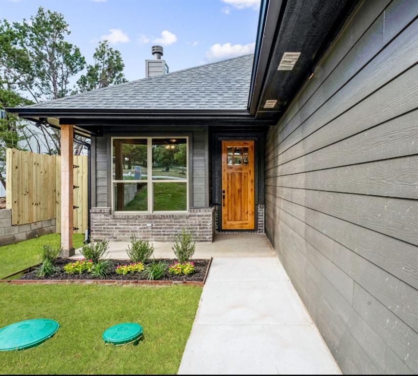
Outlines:
<svg viewBox="0 0 418 376"><path fill-rule="evenodd" d="M102 41L93 55L94 64L87 66L87 73L78 81L78 92L88 92L94 89L106 88L127 82L123 74L123 64L120 52L109 47L108 41Z"/></svg>

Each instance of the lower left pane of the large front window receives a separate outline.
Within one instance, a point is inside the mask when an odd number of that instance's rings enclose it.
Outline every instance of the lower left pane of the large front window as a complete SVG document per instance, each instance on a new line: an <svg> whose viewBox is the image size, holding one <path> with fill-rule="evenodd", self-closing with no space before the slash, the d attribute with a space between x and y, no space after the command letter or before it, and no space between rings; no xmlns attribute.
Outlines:
<svg viewBox="0 0 418 376"><path fill-rule="evenodd" d="M113 183L115 211L147 211L147 183Z"/></svg>

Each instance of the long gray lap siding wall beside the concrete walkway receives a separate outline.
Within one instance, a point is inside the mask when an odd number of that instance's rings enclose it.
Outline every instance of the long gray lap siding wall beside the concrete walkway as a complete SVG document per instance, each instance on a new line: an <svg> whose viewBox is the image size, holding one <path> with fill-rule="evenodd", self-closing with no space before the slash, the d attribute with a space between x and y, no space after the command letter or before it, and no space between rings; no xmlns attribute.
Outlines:
<svg viewBox="0 0 418 376"><path fill-rule="evenodd" d="M417 13L360 1L266 138L266 233L343 373L418 373Z"/></svg>

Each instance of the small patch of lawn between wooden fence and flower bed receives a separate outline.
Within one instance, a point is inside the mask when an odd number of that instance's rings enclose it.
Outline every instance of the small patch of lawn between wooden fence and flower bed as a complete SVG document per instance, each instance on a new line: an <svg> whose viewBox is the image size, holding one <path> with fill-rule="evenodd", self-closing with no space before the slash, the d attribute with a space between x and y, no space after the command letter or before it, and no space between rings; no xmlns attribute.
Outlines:
<svg viewBox="0 0 418 376"><path fill-rule="evenodd" d="M83 234L73 235L74 248L83 245ZM0 247L0 279L41 262L42 246L59 247L60 234L42 235L19 243Z"/></svg>

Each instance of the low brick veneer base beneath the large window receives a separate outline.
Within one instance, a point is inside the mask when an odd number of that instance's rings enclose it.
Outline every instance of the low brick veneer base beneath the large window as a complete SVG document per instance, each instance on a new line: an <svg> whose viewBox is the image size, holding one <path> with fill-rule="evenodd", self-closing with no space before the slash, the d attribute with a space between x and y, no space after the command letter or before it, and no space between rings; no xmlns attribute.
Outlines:
<svg viewBox="0 0 418 376"><path fill-rule="evenodd" d="M173 241L186 227L198 242L211 242L215 234L215 209L189 209L179 214L112 214L110 208L92 208L93 240L129 241L132 235L144 240Z"/></svg>

